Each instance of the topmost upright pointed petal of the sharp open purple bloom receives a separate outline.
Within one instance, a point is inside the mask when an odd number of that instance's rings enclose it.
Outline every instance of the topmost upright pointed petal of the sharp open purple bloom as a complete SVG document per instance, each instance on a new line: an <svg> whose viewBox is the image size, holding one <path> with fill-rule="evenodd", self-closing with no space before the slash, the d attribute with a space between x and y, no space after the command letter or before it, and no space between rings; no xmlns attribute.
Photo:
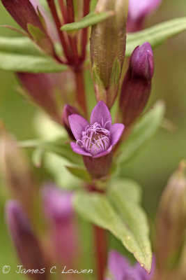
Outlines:
<svg viewBox="0 0 186 280"><path fill-rule="evenodd" d="M91 113L91 125L94 123L99 123L102 127L107 124L105 127L107 130L111 127L111 113L102 100L98 102Z"/></svg>

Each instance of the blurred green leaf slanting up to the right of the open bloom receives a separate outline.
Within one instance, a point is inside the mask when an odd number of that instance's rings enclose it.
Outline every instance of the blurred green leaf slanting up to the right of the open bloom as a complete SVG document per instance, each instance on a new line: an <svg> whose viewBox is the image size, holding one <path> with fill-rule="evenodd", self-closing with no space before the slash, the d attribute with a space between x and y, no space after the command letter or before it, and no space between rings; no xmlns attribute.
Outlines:
<svg viewBox="0 0 186 280"><path fill-rule="evenodd" d="M159 101L153 106L153 109L150 109L150 111L139 120L134 126L130 137L128 137L120 147L121 154L118 156L119 164L122 165L132 160L146 147L146 144L148 144L162 124L164 111L164 102Z"/></svg>

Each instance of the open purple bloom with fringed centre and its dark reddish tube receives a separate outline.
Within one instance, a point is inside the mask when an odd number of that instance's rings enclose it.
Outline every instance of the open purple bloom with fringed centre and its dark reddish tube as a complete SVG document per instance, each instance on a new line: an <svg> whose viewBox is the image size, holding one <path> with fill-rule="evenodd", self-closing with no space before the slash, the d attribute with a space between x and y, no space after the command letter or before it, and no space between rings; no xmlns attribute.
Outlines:
<svg viewBox="0 0 186 280"><path fill-rule="evenodd" d="M72 150L83 155L88 172L95 179L109 174L112 162L112 148L118 142L124 125L112 125L111 114L101 100L91 113L88 123L82 116L72 114L68 117L76 143L71 142Z"/></svg>

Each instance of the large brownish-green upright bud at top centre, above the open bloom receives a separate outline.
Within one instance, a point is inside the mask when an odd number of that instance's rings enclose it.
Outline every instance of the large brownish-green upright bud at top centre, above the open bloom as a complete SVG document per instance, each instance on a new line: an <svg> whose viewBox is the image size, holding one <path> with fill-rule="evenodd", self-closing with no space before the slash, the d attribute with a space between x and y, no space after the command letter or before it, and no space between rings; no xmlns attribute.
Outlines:
<svg viewBox="0 0 186 280"><path fill-rule="evenodd" d="M127 0L99 0L96 12L113 10L114 15L93 25L91 64L95 95L111 108L118 93L125 57Z"/></svg>

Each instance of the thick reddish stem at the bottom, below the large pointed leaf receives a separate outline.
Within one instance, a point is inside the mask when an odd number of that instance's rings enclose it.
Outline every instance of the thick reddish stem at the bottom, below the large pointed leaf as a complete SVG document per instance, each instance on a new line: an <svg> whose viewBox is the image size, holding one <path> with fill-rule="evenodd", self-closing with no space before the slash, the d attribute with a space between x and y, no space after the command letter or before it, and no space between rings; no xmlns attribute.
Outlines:
<svg viewBox="0 0 186 280"><path fill-rule="evenodd" d="M104 279L104 269L107 265L107 234L102 228L94 225L96 260L98 269L98 279Z"/></svg>

